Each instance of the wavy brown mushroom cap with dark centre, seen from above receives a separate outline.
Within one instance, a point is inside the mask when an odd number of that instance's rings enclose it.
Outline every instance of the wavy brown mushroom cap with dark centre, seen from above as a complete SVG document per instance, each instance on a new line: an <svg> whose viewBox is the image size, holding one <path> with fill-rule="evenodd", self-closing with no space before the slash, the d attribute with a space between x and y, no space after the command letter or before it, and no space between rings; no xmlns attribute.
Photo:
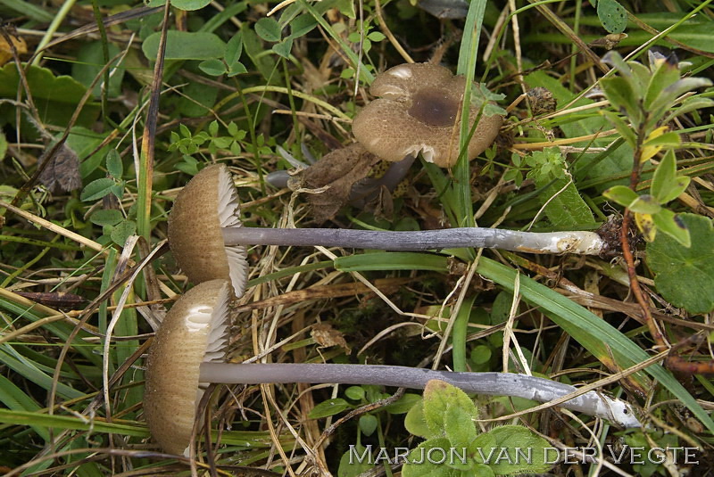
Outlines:
<svg viewBox="0 0 714 477"><path fill-rule="evenodd" d="M369 88L380 96L353 121L353 134L364 147L384 160L403 160L421 152L428 162L451 167L459 158L459 127L466 79L432 63L395 66ZM469 120L477 119L472 106ZM503 118L481 116L469 142L469 160L494 143Z"/></svg>

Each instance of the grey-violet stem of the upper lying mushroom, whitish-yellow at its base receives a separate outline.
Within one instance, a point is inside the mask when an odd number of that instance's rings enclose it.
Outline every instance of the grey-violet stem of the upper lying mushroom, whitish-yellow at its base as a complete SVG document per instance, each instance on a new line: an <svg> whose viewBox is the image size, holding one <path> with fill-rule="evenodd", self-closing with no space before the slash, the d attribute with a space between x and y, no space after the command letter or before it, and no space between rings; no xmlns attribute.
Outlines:
<svg viewBox="0 0 714 477"><path fill-rule="evenodd" d="M598 255L604 241L594 232L520 232L485 227L421 231L375 231L338 228L224 227L223 240L231 245L292 245L348 247L388 251L426 251L485 247L531 253Z"/></svg>

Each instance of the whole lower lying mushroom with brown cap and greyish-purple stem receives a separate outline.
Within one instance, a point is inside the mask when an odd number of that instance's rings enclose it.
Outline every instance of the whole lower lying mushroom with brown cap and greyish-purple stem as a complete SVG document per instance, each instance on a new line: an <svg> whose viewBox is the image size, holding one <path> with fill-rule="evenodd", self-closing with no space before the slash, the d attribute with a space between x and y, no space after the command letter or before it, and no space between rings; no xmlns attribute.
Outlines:
<svg viewBox="0 0 714 477"><path fill-rule="evenodd" d="M228 344L228 300L225 280L196 285L163 319L146 361L144 409L149 431L172 454L188 455L196 405L211 382L374 384L423 389L428 381L449 382L466 392L512 396L547 402L576 388L525 374L451 373L407 366L336 364L232 364L222 362ZM626 401L588 391L562 407L639 427Z"/></svg>

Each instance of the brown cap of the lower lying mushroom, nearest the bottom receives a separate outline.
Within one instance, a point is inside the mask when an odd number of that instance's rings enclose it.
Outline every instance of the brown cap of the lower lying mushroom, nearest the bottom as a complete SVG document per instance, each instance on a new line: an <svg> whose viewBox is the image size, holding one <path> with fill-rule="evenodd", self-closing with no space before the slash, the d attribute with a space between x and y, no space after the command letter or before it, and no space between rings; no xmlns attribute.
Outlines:
<svg viewBox="0 0 714 477"><path fill-rule="evenodd" d="M174 303L149 350L144 415L151 435L171 454L188 450L203 396L199 366L224 357L231 294L226 280L196 285Z"/></svg>

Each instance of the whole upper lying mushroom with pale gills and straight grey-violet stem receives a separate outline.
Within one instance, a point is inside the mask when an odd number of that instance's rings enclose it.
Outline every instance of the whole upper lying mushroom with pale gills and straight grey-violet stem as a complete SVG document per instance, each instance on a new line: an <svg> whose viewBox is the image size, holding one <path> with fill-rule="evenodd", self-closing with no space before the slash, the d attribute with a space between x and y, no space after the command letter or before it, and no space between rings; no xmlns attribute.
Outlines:
<svg viewBox="0 0 714 477"><path fill-rule="evenodd" d="M350 247L388 251L428 251L487 247L531 253L598 255L607 249L594 232L533 233L485 227L420 231L241 226L236 188L225 165L204 168L174 201L169 244L174 258L195 284L230 279L241 296L247 276L245 245Z"/></svg>

